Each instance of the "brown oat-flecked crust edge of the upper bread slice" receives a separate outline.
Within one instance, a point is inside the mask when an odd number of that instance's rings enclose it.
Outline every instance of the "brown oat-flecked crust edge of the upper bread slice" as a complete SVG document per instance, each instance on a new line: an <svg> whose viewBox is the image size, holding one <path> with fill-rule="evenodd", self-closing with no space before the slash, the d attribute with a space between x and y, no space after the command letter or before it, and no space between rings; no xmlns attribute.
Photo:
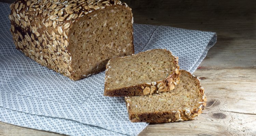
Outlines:
<svg viewBox="0 0 256 136"><path fill-rule="evenodd" d="M165 49L166 50L166 49ZM147 50L150 51L150 50ZM168 50L166 50L168 51ZM146 52L146 51L145 51ZM169 51L170 52L170 51ZM141 53L141 52L140 52ZM138 53L139 54L139 53ZM132 54L134 55L134 54ZM128 56L125 56L128 57ZM178 57L173 56L175 59L173 60L173 64L175 64L175 70L171 72L171 74L164 80L154 81L151 83L143 83L134 86L127 86L127 87L120 87L116 89L108 89L108 85L106 83L106 76L108 75L108 68L110 61L106 65L106 72L105 72L105 85L104 85L104 96L110 97L119 97L119 96L143 96L143 95L150 95L152 93L158 92L165 92L174 89L174 87L179 84L180 81L180 66L178 64ZM166 86L164 89L158 88L158 84L161 83L161 86ZM148 87L152 88L155 87L156 90L149 93L143 93L143 90Z"/></svg>

